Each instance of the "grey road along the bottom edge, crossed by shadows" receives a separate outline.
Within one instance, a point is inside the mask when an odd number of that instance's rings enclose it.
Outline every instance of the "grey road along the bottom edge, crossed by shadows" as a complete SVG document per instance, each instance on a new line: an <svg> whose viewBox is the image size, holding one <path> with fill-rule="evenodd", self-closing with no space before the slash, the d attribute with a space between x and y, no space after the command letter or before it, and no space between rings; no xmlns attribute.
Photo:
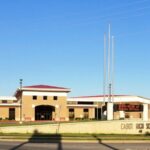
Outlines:
<svg viewBox="0 0 150 150"><path fill-rule="evenodd" d="M150 143L0 142L0 150L150 150Z"/></svg>

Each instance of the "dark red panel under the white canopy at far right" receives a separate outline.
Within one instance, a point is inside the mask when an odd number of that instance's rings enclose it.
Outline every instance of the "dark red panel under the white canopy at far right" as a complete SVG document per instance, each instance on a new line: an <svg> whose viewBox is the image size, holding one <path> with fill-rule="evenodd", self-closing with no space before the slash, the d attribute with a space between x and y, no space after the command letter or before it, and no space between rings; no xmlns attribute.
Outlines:
<svg viewBox="0 0 150 150"><path fill-rule="evenodd" d="M134 105L134 104L115 104L115 111L143 111L143 105Z"/></svg>

